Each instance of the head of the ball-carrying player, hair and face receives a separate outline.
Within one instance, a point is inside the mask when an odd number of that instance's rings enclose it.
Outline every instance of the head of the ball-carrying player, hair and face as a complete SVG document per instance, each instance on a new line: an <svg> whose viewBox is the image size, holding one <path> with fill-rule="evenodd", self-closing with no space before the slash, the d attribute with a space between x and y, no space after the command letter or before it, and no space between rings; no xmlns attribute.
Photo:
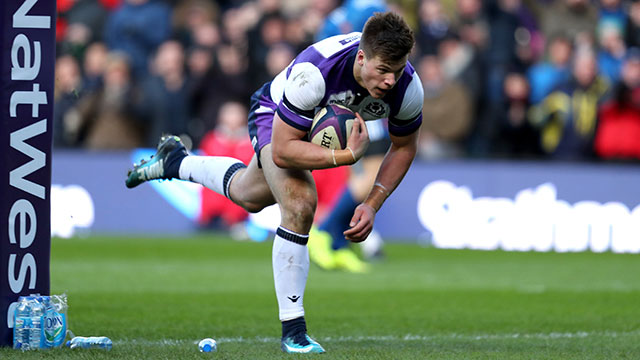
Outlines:
<svg viewBox="0 0 640 360"><path fill-rule="evenodd" d="M395 13L375 13L364 25L354 75L371 96L383 97L402 76L415 42L413 31Z"/></svg>

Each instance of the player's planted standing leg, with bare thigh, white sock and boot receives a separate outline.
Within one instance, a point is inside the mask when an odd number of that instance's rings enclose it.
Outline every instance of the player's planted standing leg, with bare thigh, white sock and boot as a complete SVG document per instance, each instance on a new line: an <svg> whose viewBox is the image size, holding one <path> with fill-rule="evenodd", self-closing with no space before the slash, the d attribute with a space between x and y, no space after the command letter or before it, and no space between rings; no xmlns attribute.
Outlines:
<svg viewBox="0 0 640 360"><path fill-rule="evenodd" d="M282 169L272 160L271 145L260 152L262 169L276 201L281 222L273 241L273 279L282 322L282 350L324 352L307 335L304 290L309 273L307 241L317 205L315 183L307 170Z"/></svg>

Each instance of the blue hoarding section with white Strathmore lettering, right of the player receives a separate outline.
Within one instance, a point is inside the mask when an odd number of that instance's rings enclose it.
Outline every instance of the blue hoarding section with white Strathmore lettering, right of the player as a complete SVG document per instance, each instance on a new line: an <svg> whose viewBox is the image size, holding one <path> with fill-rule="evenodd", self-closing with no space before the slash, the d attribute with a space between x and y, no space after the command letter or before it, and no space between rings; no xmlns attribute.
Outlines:
<svg viewBox="0 0 640 360"><path fill-rule="evenodd" d="M417 164L376 222L440 248L640 252L639 181L638 164Z"/></svg>

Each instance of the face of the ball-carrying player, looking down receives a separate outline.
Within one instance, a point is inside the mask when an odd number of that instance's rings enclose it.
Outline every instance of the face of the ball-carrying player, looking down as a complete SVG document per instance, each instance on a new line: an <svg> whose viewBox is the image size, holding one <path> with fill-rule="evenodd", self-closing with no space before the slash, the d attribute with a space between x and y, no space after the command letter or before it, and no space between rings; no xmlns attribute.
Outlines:
<svg viewBox="0 0 640 360"><path fill-rule="evenodd" d="M360 74L356 74L356 80L369 94L380 99L384 97L395 85L404 73L408 55L398 62L385 62L380 57L367 58L364 51L358 50L356 61L360 65Z"/></svg>

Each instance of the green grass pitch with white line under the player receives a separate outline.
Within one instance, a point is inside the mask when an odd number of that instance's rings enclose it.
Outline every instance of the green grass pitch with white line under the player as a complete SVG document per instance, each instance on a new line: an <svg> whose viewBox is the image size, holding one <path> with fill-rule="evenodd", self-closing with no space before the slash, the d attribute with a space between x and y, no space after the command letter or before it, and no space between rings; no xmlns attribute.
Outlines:
<svg viewBox="0 0 640 360"><path fill-rule="evenodd" d="M51 287L76 335L113 350L0 358L287 359L270 243L228 238L52 241ZM367 275L312 267L305 308L320 359L638 359L638 255L436 250L389 244ZM218 340L217 353L195 342Z"/></svg>

